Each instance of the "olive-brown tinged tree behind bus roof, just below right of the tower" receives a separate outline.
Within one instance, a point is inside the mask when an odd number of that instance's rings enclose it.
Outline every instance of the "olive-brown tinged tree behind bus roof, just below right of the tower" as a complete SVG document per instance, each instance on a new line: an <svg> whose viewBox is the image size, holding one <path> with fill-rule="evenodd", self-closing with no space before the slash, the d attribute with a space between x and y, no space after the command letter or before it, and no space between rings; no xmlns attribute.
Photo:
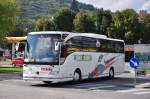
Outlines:
<svg viewBox="0 0 150 99"><path fill-rule="evenodd" d="M74 31L83 33L95 32L92 18L85 13L77 13L74 19Z"/></svg>

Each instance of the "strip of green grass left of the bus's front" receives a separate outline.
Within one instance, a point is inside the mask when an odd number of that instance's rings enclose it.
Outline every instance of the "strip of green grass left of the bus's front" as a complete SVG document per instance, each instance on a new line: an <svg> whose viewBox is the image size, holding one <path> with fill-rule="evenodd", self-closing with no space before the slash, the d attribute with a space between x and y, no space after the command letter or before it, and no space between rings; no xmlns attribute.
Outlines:
<svg viewBox="0 0 150 99"><path fill-rule="evenodd" d="M0 73L22 73L22 67L0 67Z"/></svg>

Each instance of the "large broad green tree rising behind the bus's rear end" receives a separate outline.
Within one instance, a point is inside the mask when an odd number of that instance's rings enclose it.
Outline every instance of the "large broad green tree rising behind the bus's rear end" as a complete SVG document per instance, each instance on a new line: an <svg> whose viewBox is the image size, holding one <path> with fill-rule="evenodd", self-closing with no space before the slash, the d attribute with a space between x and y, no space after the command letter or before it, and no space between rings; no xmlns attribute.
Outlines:
<svg viewBox="0 0 150 99"><path fill-rule="evenodd" d="M128 42L128 39L130 39L128 37L131 37L132 34L134 38L132 38L132 42L128 43L137 43L140 35L139 22L138 14L133 9L126 9L121 12L118 11L114 13L113 22L116 28L116 38L124 39ZM130 36L127 36L129 34Z"/></svg>

